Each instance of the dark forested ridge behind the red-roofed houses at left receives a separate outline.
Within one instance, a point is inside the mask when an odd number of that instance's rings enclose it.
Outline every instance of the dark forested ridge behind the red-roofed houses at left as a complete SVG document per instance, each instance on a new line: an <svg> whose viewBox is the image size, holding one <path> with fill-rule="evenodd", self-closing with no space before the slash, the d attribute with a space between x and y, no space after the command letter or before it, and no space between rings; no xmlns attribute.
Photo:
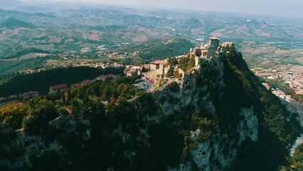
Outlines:
<svg viewBox="0 0 303 171"><path fill-rule="evenodd" d="M120 74L122 68L58 68L40 73L33 73L24 76L16 76L7 83L0 86L0 97L26 93L28 91L38 91L47 93L50 86L66 83L70 86L84 80L95 79L97 76L109 73Z"/></svg>

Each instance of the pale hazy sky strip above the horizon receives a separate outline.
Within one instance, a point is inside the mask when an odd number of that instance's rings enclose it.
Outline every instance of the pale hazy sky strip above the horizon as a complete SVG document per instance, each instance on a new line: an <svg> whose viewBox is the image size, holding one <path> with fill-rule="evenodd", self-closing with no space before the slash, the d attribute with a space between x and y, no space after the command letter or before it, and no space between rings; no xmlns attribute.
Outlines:
<svg viewBox="0 0 303 171"><path fill-rule="evenodd" d="M45 0L21 0L49 2ZM248 14L303 17L302 0L52 0L82 1L119 6L144 6L159 9L194 9L201 11L228 11Z"/></svg>

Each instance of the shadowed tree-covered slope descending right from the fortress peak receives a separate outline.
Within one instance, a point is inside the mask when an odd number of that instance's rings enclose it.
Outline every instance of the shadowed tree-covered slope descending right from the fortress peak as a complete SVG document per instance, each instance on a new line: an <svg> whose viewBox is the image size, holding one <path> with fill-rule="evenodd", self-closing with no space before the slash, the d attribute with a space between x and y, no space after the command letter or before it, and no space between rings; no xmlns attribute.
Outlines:
<svg viewBox="0 0 303 171"><path fill-rule="evenodd" d="M302 133L297 113L290 113L279 98L262 86L260 79L247 67L241 53L237 54L232 49L226 54L225 62L228 63L225 69L229 70L225 73L231 74L225 74L225 79L235 82L232 87L235 94L230 94L230 97L237 97L240 93L246 95L227 108L233 113L237 105L255 104L259 122L258 140L252 142L245 138L233 170L279 170L281 165L289 165L287 148ZM228 97L225 99L228 100Z"/></svg>

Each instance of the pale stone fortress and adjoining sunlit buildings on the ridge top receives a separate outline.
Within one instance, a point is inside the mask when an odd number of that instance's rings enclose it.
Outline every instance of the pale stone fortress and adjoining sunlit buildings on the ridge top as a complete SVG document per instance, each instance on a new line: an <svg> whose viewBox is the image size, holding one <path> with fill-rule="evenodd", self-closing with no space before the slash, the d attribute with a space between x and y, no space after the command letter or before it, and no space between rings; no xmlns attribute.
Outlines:
<svg viewBox="0 0 303 171"><path fill-rule="evenodd" d="M233 46L233 42L231 41L220 44L219 38L211 37L208 43L201 43L200 47L191 48L188 54L184 56L176 56L174 58L176 61L180 61L184 58L194 60L193 68L198 68L200 67L199 64L201 61L209 61L216 56L220 56L223 54L223 48L231 46ZM167 58L165 60L152 61L145 65L127 66L124 69L124 74L127 76L142 76L135 86L149 92L159 90L159 88L163 88L172 82L181 83L186 71L179 68L178 65L172 68L173 65L169 63L169 60L170 58ZM142 84L147 86L142 86Z"/></svg>

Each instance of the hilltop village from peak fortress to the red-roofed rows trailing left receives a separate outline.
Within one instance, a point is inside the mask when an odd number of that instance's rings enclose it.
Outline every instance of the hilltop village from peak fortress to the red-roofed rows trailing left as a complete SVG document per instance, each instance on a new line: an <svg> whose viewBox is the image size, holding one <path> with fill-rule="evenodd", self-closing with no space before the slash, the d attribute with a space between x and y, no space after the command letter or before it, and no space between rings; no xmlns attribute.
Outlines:
<svg viewBox="0 0 303 171"><path fill-rule="evenodd" d="M216 57L223 53L222 48L226 46L232 46L233 42L223 42L220 45L220 39L216 37L210 38L208 43L201 43L200 47L191 48L188 54L183 56L175 56L173 57L177 61L181 59L188 58L194 61L194 67L199 67L199 63L203 60L211 60L211 58ZM179 66L172 66L169 64L170 58L166 58L164 60L157 60L151 61L149 64L142 64L139 66L125 66L124 75L125 76L137 76L139 79L135 81L134 86L141 90L145 90L148 92L152 92L154 90L159 90L159 88L164 88L165 86L169 85L169 83L177 82L181 83L182 78L186 71L179 68ZM107 68L107 67L114 67L119 68L123 67L119 63L112 63L109 65L104 65L104 63L95 63L95 64L87 64L87 63L80 63L68 66L55 66L56 68L60 67L80 67L80 66L88 66L92 68ZM28 71L28 73L33 73L33 71ZM105 81L107 78L114 78L117 79L120 76L115 76L113 74L109 74L106 76L98 76L94 80L86 80L80 83L75 83L73 85L68 86L66 83L61 83L59 85L50 86L49 93L56 93L58 91L67 91L70 87L73 86L84 86L90 83L94 83L95 81ZM30 91L27 93L19 94L19 95L9 95L7 97L0 97L0 104L4 105L5 103L17 103L18 101L22 100L23 98L33 98L34 96L38 95L39 93L36 91Z"/></svg>

